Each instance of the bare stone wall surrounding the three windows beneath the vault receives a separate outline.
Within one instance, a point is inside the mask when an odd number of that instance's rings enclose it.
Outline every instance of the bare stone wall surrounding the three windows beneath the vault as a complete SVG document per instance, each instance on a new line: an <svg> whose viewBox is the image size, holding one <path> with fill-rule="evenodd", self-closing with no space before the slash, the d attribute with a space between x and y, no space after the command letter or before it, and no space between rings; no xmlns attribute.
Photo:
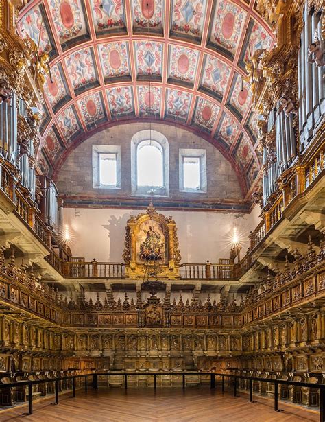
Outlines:
<svg viewBox="0 0 325 422"><path fill-rule="evenodd" d="M241 200L242 193L237 174L232 165L213 145L197 135L166 124L152 124L152 130L165 135L169 142L169 197L189 200L204 198ZM67 156L64 166L56 175L60 194L125 197L131 196L131 139L140 130L148 129L147 123L123 124L108 128L86 139ZM94 189L92 145L121 145L121 189ZM207 192L191 194L179 191L179 148L203 148L207 158Z"/></svg>

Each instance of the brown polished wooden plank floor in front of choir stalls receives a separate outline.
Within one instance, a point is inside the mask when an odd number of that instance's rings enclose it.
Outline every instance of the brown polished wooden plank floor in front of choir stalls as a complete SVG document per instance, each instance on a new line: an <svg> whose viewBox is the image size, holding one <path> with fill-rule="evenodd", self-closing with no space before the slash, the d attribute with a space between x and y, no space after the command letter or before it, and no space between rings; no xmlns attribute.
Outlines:
<svg viewBox="0 0 325 422"><path fill-rule="evenodd" d="M274 412L273 401L254 397L255 403L248 401L248 396L239 393L233 397L230 393L200 388L129 388L127 392L119 388L89 389L87 395L77 390L74 399L65 395L60 397L58 406L52 406L51 400L34 403L34 413L22 416L27 406L19 406L0 412L1 422L309 422L319 421L317 412L310 412L293 405L279 402L284 412Z"/></svg>

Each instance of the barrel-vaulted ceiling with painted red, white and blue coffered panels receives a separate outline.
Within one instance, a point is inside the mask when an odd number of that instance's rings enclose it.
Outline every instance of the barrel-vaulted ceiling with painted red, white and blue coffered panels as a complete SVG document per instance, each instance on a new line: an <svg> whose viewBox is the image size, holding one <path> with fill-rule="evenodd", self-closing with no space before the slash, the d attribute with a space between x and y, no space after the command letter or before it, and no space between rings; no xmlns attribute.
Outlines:
<svg viewBox="0 0 325 422"><path fill-rule="evenodd" d="M38 161L50 174L93 130L180 124L228 157L247 187L261 168L245 62L274 35L256 0L34 0L19 16L50 56Z"/></svg>

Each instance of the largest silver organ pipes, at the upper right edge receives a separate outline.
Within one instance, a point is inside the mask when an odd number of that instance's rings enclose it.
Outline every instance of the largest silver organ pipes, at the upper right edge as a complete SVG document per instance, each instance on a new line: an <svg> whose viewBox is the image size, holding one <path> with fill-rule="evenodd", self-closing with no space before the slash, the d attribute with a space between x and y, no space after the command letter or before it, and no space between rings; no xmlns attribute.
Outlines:
<svg viewBox="0 0 325 422"><path fill-rule="evenodd" d="M322 12L304 7L298 51L300 152L308 145L325 112L322 59Z"/></svg>

